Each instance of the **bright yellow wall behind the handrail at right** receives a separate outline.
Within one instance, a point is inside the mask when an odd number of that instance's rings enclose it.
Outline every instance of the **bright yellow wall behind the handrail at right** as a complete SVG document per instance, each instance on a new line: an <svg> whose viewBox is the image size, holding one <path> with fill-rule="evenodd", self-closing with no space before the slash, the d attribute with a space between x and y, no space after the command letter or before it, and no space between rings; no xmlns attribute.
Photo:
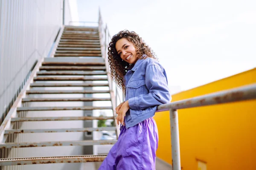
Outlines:
<svg viewBox="0 0 256 170"><path fill-rule="evenodd" d="M172 95L172 102L256 82L256 68ZM256 170L256 100L180 109L182 170ZM172 164L169 112L156 113L157 157Z"/></svg>

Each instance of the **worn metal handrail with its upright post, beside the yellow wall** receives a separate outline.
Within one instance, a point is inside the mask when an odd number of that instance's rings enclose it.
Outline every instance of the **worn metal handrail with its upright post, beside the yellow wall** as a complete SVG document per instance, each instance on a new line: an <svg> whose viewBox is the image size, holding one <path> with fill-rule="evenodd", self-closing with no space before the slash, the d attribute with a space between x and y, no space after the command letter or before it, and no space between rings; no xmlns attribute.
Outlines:
<svg viewBox="0 0 256 170"><path fill-rule="evenodd" d="M231 90L220 91L204 96L198 96L158 106L157 112L170 111L173 170L181 170L180 138L177 109L195 108L207 105L218 105L222 103L239 102L250 99L256 99L256 83L242 86L239 88L234 88Z"/></svg>

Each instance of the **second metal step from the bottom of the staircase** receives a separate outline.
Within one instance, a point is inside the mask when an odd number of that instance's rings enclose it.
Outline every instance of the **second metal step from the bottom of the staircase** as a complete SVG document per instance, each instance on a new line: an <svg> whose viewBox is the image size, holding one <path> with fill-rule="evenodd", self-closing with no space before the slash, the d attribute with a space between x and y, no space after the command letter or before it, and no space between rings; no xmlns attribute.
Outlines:
<svg viewBox="0 0 256 170"><path fill-rule="evenodd" d="M0 143L0 149L18 147L47 147L47 146L91 146L115 144L117 140L81 140L81 141L47 141L47 142L13 142Z"/></svg>

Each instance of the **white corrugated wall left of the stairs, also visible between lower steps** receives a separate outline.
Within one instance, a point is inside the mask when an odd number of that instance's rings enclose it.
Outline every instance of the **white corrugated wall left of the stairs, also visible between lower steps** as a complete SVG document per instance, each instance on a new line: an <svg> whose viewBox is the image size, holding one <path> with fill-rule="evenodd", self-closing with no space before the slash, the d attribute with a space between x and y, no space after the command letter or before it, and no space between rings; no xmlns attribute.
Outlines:
<svg viewBox="0 0 256 170"><path fill-rule="evenodd" d="M52 43L63 23L63 0L0 0L0 116L10 108L20 87L29 76L29 71L41 57L47 57ZM71 21L69 1L65 1L65 23ZM70 90L70 89L69 89ZM80 95L81 96L81 95ZM79 94L76 97L80 97ZM43 97L47 97L44 95ZM61 96L58 96L61 97ZM73 96L75 97L75 96ZM48 105L57 105L49 103ZM72 103L73 104L73 103ZM9 106L10 105L10 106ZM40 103L24 106L42 106ZM58 106L61 106L60 104ZM65 103L65 106L71 103ZM83 105L83 103L77 103ZM57 111L58 112L58 111ZM64 111L61 116L82 116L82 111ZM51 113L29 112L28 116L55 116ZM55 122L56 125L56 122ZM51 128L52 122L27 122L21 128ZM56 126L54 126L56 128ZM58 128L83 127L82 122L58 122ZM83 133L20 134L15 142L55 140L81 140ZM47 138L47 139L46 139ZM9 157L62 156L82 154L81 147L32 147L12 149ZM68 170L72 164L40 164L6 166L5 170ZM73 164L72 169L79 169Z"/></svg>

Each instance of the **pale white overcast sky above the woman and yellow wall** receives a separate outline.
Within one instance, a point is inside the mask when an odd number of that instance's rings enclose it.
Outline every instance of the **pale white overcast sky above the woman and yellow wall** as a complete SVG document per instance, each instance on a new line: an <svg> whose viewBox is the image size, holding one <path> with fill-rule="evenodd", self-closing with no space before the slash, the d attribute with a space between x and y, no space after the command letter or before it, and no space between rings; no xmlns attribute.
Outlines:
<svg viewBox="0 0 256 170"><path fill-rule="evenodd" d="M256 0L71 0L79 21L135 31L167 71L172 93L256 67ZM75 15L75 14L74 14Z"/></svg>

